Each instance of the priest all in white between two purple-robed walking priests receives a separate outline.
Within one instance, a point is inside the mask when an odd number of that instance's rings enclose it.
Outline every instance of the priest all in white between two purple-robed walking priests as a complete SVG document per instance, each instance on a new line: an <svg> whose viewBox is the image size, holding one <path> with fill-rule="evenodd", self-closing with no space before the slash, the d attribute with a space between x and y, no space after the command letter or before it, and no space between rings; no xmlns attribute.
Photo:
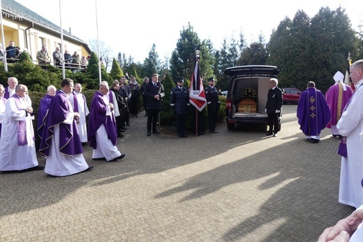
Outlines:
<svg viewBox="0 0 363 242"><path fill-rule="evenodd" d="M82 86L80 83L75 84L75 90L69 95L74 112L78 112L80 117L76 119L78 133L82 143L87 142L87 124L86 116L89 110L86 103L86 98L82 94Z"/></svg>

